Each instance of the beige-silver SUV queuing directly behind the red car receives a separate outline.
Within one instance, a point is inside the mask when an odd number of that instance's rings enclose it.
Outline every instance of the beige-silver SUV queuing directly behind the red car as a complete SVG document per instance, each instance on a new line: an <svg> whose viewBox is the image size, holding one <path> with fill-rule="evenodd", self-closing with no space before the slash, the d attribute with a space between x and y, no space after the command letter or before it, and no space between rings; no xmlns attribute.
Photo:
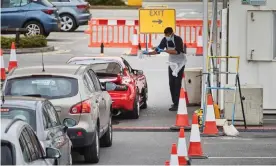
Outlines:
<svg viewBox="0 0 276 166"><path fill-rule="evenodd" d="M107 92L112 86L108 82L104 86L90 65L67 64L47 65L44 70L42 66L15 68L3 89L6 96L47 98L61 121L65 118L77 121L67 131L73 150L83 154L87 162L97 163L99 147L112 145L112 99Z"/></svg>

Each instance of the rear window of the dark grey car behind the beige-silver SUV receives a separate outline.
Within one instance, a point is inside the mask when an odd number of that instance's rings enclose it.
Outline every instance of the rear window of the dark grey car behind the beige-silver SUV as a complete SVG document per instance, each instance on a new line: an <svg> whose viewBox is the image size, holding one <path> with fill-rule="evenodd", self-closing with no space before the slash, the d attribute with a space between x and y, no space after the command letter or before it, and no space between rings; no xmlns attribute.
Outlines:
<svg viewBox="0 0 276 166"><path fill-rule="evenodd" d="M18 107L1 107L2 119L21 119L36 131L36 112L32 109Z"/></svg>

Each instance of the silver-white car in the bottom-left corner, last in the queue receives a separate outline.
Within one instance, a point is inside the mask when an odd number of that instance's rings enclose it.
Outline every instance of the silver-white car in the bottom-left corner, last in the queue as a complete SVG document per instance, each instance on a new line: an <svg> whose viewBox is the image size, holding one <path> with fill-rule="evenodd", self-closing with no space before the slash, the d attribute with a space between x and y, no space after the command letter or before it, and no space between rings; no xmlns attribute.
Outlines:
<svg viewBox="0 0 276 166"><path fill-rule="evenodd" d="M44 151L32 127L21 119L1 120L1 165L53 165L61 157L55 148Z"/></svg>

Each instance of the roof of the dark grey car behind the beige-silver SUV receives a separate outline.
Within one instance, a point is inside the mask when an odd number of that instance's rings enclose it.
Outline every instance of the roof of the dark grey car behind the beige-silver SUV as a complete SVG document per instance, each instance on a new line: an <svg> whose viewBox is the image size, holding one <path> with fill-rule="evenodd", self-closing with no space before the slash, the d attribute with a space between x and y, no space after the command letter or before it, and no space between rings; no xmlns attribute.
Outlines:
<svg viewBox="0 0 276 166"><path fill-rule="evenodd" d="M45 100L47 99L29 96L4 96L4 103L1 100L1 107L18 107L36 110L37 104Z"/></svg>

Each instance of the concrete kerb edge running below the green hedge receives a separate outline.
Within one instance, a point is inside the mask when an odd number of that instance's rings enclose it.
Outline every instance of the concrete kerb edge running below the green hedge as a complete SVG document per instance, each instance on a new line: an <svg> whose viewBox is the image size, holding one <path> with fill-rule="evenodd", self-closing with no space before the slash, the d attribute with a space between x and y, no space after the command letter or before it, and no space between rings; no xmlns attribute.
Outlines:
<svg viewBox="0 0 276 166"><path fill-rule="evenodd" d="M4 54L9 54L10 49L3 49ZM40 48L17 48L16 54L27 54L27 53L40 53L40 52L51 52L55 51L54 46L40 47Z"/></svg>

